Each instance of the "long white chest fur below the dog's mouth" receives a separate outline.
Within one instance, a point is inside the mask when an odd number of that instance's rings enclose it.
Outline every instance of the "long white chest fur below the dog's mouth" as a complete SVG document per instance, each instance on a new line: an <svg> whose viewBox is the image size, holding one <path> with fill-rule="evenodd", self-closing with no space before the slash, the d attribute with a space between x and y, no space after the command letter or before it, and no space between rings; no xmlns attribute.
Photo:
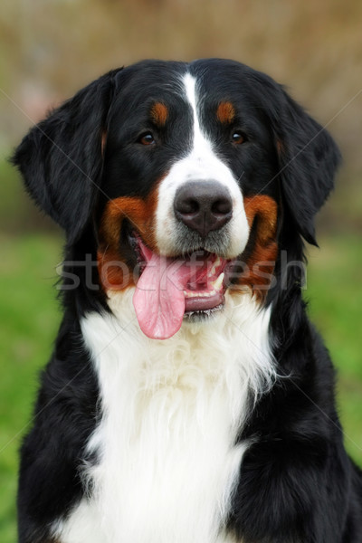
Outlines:
<svg viewBox="0 0 362 543"><path fill-rule="evenodd" d="M243 452L234 445L247 396L274 376L269 311L247 295L214 321L170 339L143 336L132 292L114 317L83 320L102 418L88 450L83 499L56 535L62 543L226 543L222 534Z"/></svg>

